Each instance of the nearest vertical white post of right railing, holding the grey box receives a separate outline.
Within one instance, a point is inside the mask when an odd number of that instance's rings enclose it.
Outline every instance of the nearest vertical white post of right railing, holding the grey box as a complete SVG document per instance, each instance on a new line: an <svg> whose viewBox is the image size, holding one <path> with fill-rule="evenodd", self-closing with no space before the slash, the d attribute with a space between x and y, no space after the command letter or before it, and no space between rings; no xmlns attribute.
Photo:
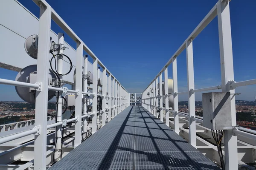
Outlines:
<svg viewBox="0 0 256 170"><path fill-rule="evenodd" d="M230 89L230 81L234 80L233 68L233 50L230 24L230 7L228 0L219 0L217 2L218 14L218 32L220 44L220 58L221 58L221 89L222 92L230 91L235 94L235 90ZM236 102L235 95L231 97L231 121L232 126L236 126ZM225 169L238 169L238 153L237 153L237 137L233 130L225 130Z"/></svg>

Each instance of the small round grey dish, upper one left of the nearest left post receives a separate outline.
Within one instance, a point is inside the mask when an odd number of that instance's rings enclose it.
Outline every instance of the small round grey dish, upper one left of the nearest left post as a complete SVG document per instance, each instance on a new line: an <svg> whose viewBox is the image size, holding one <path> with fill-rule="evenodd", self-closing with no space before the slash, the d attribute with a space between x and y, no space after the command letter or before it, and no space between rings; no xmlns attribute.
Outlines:
<svg viewBox="0 0 256 170"><path fill-rule="evenodd" d="M38 35L30 35L24 43L26 53L33 59L37 59L38 53Z"/></svg>

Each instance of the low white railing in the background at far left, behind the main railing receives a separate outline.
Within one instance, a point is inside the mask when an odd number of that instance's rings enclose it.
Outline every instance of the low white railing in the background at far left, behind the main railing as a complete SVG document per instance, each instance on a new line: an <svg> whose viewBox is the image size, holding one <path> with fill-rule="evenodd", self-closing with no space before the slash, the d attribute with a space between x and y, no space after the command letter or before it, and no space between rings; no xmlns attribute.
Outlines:
<svg viewBox="0 0 256 170"><path fill-rule="evenodd" d="M54 120L55 118L52 116L47 117L47 122ZM13 130L13 129L18 129L20 127L26 127L30 125L35 124L35 119L30 119L30 120L25 120L25 121L20 121L20 122L13 122L13 123L7 123L0 125L0 132L6 132L8 130Z"/></svg>

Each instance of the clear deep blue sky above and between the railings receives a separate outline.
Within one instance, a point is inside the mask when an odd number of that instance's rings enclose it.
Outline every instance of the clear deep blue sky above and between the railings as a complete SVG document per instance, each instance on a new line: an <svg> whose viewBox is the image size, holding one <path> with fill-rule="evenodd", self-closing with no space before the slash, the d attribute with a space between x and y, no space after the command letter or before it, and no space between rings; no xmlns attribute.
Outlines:
<svg viewBox="0 0 256 170"><path fill-rule="evenodd" d="M35 16L32 0L19 0ZM129 92L142 92L217 0L47 0ZM230 2L235 80L255 79L256 1ZM61 32L52 23L52 30ZM75 42L65 40L75 47ZM221 84L217 18L193 42L195 88ZM172 65L169 77L172 78ZM177 58L179 91L187 90L186 51ZM16 72L0 69L0 78ZM2 74L3 73L3 74ZM0 85L0 100L20 100ZM236 99L253 100L256 86L236 88ZM11 96L9 95L11 94ZM179 100L186 100L180 95ZM201 94L196 94L201 100Z"/></svg>

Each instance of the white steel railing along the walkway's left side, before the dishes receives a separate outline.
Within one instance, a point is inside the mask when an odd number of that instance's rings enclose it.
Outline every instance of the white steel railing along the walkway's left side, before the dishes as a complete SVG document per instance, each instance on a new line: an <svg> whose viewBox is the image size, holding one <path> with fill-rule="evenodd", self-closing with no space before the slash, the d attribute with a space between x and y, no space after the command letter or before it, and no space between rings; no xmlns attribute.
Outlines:
<svg viewBox="0 0 256 170"><path fill-rule="evenodd" d="M18 139L24 136L35 134L35 147L34 150L34 169L46 170L46 157L47 157L47 129L52 127L57 127L58 130L61 129L65 123L75 121L75 136L74 136L74 145L75 147L81 144L82 140L82 124L87 125L86 119L92 117L92 133L95 133L97 130L97 114L102 114L102 125L105 125L106 122L106 113L108 113L108 121L112 117L116 116L121 111L122 108L126 108L129 105L129 95L125 88L121 85L120 82L111 74L111 72L103 65L103 63L96 57L95 54L84 44L84 42L74 33L74 31L67 25L67 23L62 20L62 18L52 9L52 7L45 0L33 0L40 7L40 19L39 19L39 34L38 37L38 58L37 58L37 83L31 84L26 82L17 82L8 79L0 79L0 84L6 85L15 85L21 87L34 88L36 90L36 100L35 100L35 127L31 130L26 130L22 133L13 134L10 136L4 136L0 138L0 144L8 142L14 139ZM49 55L49 37L51 30L51 20L60 26L60 28L68 34L68 36L73 39L76 44L76 90L70 90L66 87L55 88L48 86L48 55ZM82 81L87 81L83 76L87 74L87 67L83 63L87 62L87 55L84 56L83 61L83 52L86 52L90 57L93 58L93 93L87 91L87 83L84 83L84 91L82 91ZM85 62L86 61L86 62ZM98 65L102 68L102 84L104 88L102 89L102 94L99 94L97 91L97 72L99 72ZM106 88L107 79L109 81L108 89ZM111 96L111 82L112 86L112 96ZM48 90L60 91L61 93L75 93L76 102L75 102L75 118L68 120L58 120L57 123L47 125L47 103L48 103ZM108 96L107 96L108 92ZM92 96L93 106L91 113L83 113L82 108L82 99L84 96ZM97 111L97 96L101 96L102 99L102 111ZM125 96L125 97L120 97ZM108 99L109 107L106 108L106 99ZM112 115L112 117L111 117ZM85 132L83 132L85 133Z"/></svg>

